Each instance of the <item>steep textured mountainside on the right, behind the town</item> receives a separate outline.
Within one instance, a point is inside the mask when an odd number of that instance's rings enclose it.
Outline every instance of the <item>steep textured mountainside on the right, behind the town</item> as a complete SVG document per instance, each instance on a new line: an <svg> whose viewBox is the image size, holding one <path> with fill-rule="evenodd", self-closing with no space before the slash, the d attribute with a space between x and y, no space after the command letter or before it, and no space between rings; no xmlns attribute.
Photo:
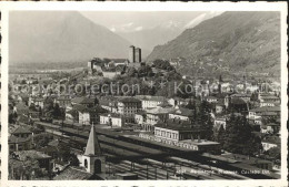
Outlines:
<svg viewBox="0 0 289 187"><path fill-rule="evenodd" d="M186 58L185 74L196 62L228 66L232 72L267 72L280 75L280 14L278 12L225 12L185 30L175 40L158 45L148 56ZM210 72L208 72L210 73Z"/></svg>

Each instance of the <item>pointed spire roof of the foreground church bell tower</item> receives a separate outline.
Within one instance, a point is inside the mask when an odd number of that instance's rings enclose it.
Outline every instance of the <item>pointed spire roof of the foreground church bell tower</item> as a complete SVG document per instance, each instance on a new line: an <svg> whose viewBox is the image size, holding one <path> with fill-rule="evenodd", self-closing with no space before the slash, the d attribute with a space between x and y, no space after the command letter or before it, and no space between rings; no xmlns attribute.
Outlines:
<svg viewBox="0 0 289 187"><path fill-rule="evenodd" d="M101 155L100 145L96 134L96 127L93 124L91 125L84 155L96 155L96 156Z"/></svg>

